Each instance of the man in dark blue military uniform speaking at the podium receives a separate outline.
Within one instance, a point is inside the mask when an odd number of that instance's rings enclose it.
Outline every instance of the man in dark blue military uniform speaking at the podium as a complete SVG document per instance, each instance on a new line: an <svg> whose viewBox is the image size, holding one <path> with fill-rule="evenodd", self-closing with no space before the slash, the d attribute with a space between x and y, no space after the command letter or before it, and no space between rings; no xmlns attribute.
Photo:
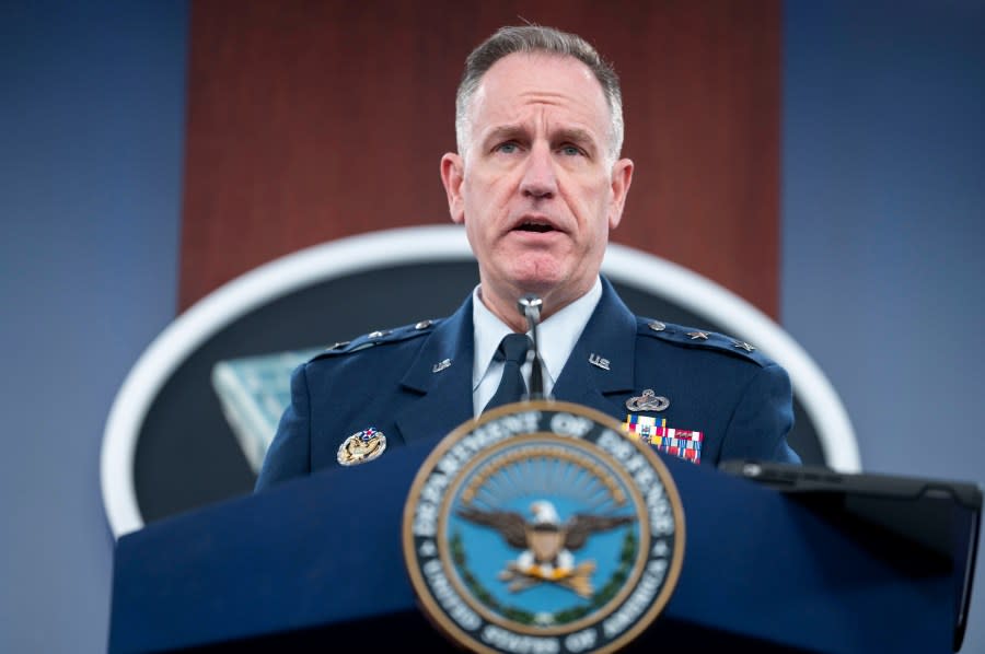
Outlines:
<svg viewBox="0 0 985 654"><path fill-rule="evenodd" d="M296 370L258 490L437 441L500 401L500 342L526 330L517 302L528 293L543 302L541 360L522 362L523 338L518 355L526 376L541 367L546 395L645 437L682 430L692 446L676 453L695 462L799 462L778 365L748 343L637 318L600 277L633 162L619 159L618 80L589 44L540 26L500 30L466 61L455 132L441 179L479 287L450 318L338 343Z"/></svg>

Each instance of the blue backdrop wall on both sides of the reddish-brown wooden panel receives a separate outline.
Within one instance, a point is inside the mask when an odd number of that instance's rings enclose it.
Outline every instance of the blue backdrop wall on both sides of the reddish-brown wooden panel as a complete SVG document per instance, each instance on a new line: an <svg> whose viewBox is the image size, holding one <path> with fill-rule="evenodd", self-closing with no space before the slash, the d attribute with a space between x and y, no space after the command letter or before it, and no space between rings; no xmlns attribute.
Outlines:
<svg viewBox="0 0 985 654"><path fill-rule="evenodd" d="M985 483L985 4L785 4L783 323L866 469ZM2 652L105 651L102 430L174 317L187 4L81 7L0 3Z"/></svg>

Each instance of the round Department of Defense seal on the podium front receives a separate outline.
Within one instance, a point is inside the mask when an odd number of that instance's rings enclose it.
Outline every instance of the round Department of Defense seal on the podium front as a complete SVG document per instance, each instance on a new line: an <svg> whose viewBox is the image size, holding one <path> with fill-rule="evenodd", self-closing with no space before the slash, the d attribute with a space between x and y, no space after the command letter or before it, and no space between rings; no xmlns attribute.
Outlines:
<svg viewBox="0 0 985 654"><path fill-rule="evenodd" d="M612 652L661 612L684 557L670 472L612 418L511 404L445 436L404 509L424 611L476 652Z"/></svg>

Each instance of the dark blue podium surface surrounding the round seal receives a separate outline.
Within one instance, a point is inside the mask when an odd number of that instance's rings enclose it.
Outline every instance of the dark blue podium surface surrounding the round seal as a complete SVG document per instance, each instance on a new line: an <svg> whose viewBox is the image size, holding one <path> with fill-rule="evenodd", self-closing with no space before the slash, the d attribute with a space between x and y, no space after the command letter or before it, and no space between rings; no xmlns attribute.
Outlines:
<svg viewBox="0 0 985 654"><path fill-rule="evenodd" d="M433 445L123 536L109 653L460 651L419 610L401 549L405 500ZM683 569L626 651L953 651L966 559L661 457L683 504ZM977 534L974 521L953 528Z"/></svg>

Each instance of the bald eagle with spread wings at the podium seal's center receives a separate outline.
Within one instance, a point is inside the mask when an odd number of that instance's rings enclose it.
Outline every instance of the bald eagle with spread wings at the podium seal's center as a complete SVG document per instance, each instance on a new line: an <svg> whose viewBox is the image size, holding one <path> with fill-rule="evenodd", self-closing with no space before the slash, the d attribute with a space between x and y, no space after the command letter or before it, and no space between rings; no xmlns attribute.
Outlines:
<svg viewBox="0 0 985 654"><path fill-rule="evenodd" d="M581 597L594 593L591 575L594 561L577 563L572 552L583 548L591 535L615 529L636 522L630 515L591 515L576 513L561 522L554 504L537 500L530 505L532 519L515 511L483 511L459 509L460 517L491 527L507 544L521 550L499 573L508 589L517 593L542 583L552 583L573 591Z"/></svg>

